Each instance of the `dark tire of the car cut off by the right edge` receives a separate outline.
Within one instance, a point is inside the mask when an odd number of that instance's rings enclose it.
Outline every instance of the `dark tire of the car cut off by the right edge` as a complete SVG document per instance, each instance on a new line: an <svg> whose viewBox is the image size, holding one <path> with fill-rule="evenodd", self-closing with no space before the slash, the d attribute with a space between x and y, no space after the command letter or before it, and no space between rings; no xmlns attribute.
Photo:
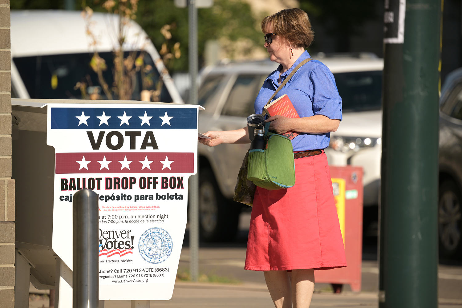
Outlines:
<svg viewBox="0 0 462 308"><path fill-rule="evenodd" d="M453 181L444 181L438 193L438 242L441 259L462 256L462 195Z"/></svg>

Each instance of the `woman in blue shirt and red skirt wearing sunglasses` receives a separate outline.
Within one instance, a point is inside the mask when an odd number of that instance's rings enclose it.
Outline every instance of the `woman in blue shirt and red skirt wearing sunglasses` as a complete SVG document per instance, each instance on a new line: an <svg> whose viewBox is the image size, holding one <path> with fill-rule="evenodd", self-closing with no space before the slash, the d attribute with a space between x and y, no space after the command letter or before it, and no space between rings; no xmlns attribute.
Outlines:
<svg viewBox="0 0 462 308"><path fill-rule="evenodd" d="M265 48L280 64L263 83L255 100L255 113L278 86L310 55L313 41L308 15L286 9L261 22ZM245 269L263 271L277 308L309 307L314 290L314 270L346 266L345 251L335 210L332 182L324 154L330 132L341 120L341 98L329 69L318 60L300 67L274 99L287 94L299 118L272 116L270 130L298 132L292 139L295 186L268 191L257 187L249 227ZM208 146L249 143L247 127L233 131L209 131ZM300 157L300 158L298 158Z"/></svg>

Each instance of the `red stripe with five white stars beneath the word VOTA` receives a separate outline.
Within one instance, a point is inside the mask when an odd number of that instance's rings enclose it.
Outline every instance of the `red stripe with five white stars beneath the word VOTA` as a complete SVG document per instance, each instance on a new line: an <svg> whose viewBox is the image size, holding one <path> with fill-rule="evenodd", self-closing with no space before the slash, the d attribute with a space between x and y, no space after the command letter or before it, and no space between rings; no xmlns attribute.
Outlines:
<svg viewBox="0 0 462 308"><path fill-rule="evenodd" d="M56 174L193 173L194 153L56 153Z"/></svg>

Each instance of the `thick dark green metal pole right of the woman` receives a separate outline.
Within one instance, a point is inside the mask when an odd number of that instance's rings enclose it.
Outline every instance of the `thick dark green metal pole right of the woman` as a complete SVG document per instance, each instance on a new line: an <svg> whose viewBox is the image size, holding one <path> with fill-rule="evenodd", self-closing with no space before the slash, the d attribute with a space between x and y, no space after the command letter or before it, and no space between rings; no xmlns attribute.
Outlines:
<svg viewBox="0 0 462 308"><path fill-rule="evenodd" d="M441 2L385 4L379 307L436 308Z"/></svg>

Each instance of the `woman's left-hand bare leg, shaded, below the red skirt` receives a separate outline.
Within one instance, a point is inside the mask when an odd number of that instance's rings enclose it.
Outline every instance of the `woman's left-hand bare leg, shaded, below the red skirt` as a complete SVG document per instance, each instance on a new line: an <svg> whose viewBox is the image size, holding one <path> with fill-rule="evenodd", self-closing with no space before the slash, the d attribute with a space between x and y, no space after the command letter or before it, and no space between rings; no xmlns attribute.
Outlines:
<svg viewBox="0 0 462 308"><path fill-rule="evenodd" d="M276 308L292 308L292 290L286 271L264 271L269 294Z"/></svg>

